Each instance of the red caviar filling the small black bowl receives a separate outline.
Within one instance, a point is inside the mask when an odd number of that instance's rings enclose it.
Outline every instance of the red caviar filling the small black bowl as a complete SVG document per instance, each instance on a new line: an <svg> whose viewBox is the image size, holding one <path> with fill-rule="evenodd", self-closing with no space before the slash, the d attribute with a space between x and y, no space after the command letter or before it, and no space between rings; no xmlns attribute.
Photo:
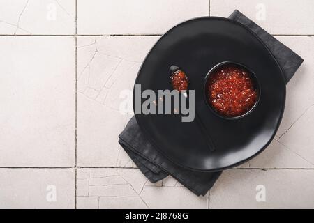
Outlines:
<svg viewBox="0 0 314 223"><path fill-rule="evenodd" d="M240 66L225 65L209 76L207 100L222 116L241 116L255 105L257 89L248 70Z"/></svg>

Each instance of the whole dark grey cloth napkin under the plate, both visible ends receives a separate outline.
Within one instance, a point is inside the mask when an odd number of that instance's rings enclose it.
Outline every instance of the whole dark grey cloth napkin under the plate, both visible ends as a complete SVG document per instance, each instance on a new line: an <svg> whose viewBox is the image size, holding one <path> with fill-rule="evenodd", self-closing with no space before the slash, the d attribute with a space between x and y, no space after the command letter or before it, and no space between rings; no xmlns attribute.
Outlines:
<svg viewBox="0 0 314 223"><path fill-rule="evenodd" d="M235 10L229 18L244 24L260 37L271 53L274 54L283 70L285 81L288 82L303 62L303 59L238 10ZM119 135L119 144L151 183L156 183L171 175L199 196L206 194L221 174L221 171L214 173L192 171L170 162L144 136L134 116Z"/></svg>

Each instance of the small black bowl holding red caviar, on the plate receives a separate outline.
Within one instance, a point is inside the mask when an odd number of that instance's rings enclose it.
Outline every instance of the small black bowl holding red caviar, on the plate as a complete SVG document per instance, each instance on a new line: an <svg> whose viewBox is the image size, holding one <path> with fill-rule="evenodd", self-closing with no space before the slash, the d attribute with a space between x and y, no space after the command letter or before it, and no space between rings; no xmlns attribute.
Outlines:
<svg viewBox="0 0 314 223"><path fill-rule="evenodd" d="M257 93L257 99L255 100L254 105L251 107L251 109L249 109L247 112L245 112L244 114L241 114L240 116L223 116L221 114L219 114L218 112L215 111L215 109L210 105L209 103L209 98L208 98L208 87L207 87L207 82L209 77L217 70L220 69L224 66L237 66L239 68L242 68L244 70L246 70L248 72L248 75L251 78L251 81L253 82L253 87L256 90ZM211 110L211 112L213 112L216 116L219 116L220 118L225 118L228 120L236 120L239 118L244 118L245 116L247 116L248 114L250 114L253 109L255 109L255 107L257 106L259 100L260 100L260 83L258 82L258 79L255 75L255 73L253 72L253 70L251 70L250 68L248 68L247 66L244 66L241 63L237 63L237 62L232 62L232 61L223 61L221 63L216 64L216 66L214 66L214 68L211 68L211 70L209 70L209 72L207 73L207 75L205 76L205 82L204 82L204 100L207 104L207 106L209 107L209 110Z"/></svg>

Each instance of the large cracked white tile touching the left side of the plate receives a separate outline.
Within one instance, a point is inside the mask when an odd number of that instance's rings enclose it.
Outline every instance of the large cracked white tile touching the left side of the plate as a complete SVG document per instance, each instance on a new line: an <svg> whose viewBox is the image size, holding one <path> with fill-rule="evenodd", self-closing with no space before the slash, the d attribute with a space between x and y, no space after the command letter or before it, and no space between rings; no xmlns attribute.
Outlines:
<svg viewBox="0 0 314 223"><path fill-rule="evenodd" d="M77 164L80 167L135 167L119 145L118 135L133 114L132 90L139 61L157 39L78 38Z"/></svg>

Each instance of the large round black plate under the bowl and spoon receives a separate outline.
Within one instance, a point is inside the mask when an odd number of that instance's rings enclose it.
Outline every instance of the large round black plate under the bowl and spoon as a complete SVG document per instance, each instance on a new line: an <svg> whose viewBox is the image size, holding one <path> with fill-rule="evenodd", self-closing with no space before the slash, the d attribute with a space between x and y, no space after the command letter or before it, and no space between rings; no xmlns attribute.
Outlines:
<svg viewBox="0 0 314 223"><path fill-rule="evenodd" d="M260 84L260 100L243 118L216 116L205 102L204 77L223 61L253 70ZM276 59L251 30L222 17L178 24L147 54L135 84L141 84L142 91L171 89L168 70L172 65L187 73L189 89L195 89L195 109L216 151L209 151L195 121L182 123L179 115L135 114L140 128L163 155L188 169L218 171L246 162L269 145L283 115L285 82Z"/></svg>

